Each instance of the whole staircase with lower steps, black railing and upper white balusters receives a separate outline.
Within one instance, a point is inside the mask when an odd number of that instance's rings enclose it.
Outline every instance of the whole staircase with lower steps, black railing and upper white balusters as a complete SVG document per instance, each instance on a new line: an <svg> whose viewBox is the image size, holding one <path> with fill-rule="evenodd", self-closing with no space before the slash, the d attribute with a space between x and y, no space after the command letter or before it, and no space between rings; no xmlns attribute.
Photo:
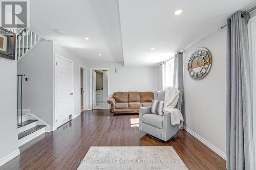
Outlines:
<svg viewBox="0 0 256 170"><path fill-rule="evenodd" d="M17 62L22 60L27 53L41 40L41 37L35 32L24 29L17 33ZM50 131L50 126L31 114L30 109L22 108L22 86L25 75L17 75L17 133L18 145L21 146L35 137ZM24 84L26 85L26 84Z"/></svg>

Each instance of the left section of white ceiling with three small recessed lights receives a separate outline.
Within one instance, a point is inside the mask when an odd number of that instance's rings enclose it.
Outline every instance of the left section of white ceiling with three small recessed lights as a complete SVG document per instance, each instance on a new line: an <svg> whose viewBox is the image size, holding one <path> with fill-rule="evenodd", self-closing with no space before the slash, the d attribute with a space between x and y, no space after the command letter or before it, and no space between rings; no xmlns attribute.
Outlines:
<svg viewBox="0 0 256 170"><path fill-rule="evenodd" d="M118 1L30 2L31 29L43 38L56 41L89 62L123 62Z"/></svg>

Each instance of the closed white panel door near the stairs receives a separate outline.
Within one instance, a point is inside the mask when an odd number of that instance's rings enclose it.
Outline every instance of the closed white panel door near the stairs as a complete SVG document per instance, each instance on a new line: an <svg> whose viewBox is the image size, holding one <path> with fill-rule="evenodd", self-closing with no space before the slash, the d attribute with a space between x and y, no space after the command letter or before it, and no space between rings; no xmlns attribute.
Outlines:
<svg viewBox="0 0 256 170"><path fill-rule="evenodd" d="M71 117L70 117L71 115ZM55 56L56 128L73 117L73 63Z"/></svg>

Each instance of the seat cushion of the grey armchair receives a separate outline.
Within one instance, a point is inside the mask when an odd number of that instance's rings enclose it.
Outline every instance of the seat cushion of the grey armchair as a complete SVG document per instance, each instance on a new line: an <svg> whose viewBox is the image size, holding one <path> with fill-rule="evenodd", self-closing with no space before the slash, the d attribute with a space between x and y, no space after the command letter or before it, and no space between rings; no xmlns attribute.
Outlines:
<svg viewBox="0 0 256 170"><path fill-rule="evenodd" d="M158 114L144 114L142 116L142 122L147 125L163 129L163 116Z"/></svg>

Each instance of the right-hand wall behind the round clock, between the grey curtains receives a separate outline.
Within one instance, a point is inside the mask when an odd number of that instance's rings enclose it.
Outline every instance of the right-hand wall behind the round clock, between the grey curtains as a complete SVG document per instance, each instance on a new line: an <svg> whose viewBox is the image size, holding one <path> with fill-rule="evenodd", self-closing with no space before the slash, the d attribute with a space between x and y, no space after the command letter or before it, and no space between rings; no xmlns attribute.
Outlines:
<svg viewBox="0 0 256 170"><path fill-rule="evenodd" d="M198 47L212 55L208 75L193 80L187 61ZM186 49L184 54L184 125L226 153L226 30L216 32Z"/></svg>

